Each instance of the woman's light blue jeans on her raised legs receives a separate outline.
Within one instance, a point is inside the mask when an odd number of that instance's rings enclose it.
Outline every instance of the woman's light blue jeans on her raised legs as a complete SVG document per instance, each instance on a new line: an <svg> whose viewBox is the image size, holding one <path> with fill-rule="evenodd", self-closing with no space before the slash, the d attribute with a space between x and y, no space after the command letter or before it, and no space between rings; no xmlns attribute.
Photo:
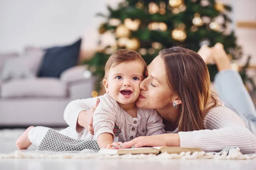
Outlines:
<svg viewBox="0 0 256 170"><path fill-rule="evenodd" d="M256 108L240 74L233 70L220 71L216 74L214 84L224 105L235 111L244 120L246 127L256 135Z"/></svg>

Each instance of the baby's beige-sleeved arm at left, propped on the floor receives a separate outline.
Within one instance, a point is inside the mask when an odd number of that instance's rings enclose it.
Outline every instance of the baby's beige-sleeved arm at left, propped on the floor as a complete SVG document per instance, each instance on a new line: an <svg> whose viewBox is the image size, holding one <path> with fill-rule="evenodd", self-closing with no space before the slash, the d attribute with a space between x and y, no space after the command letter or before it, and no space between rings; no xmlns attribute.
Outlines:
<svg viewBox="0 0 256 170"><path fill-rule="evenodd" d="M100 148L106 148L113 143L114 125L116 122L116 102L109 96L100 98L100 103L93 114L93 128Z"/></svg>

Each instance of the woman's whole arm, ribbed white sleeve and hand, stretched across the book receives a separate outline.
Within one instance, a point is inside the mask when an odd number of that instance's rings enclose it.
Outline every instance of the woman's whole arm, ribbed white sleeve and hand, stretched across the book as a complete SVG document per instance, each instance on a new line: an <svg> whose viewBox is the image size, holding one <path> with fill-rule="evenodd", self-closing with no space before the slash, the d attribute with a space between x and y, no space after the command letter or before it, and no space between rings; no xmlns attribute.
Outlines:
<svg viewBox="0 0 256 170"><path fill-rule="evenodd" d="M221 151L229 146L239 147L244 154L256 152L256 136L246 127L239 125L226 108L219 106L211 109L204 124L206 130L143 136L125 142L122 148L180 144L180 147L198 147L205 152Z"/></svg>

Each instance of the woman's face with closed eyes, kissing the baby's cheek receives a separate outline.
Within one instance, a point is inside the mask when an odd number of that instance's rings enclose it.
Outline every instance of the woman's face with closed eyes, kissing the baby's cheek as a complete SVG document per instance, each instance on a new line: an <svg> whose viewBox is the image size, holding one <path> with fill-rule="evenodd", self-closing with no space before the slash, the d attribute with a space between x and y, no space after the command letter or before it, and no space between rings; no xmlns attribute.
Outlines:
<svg viewBox="0 0 256 170"><path fill-rule="evenodd" d="M136 101L139 108L163 109L172 105L172 91L166 80L163 59L157 56L148 65L146 78L140 83L140 96Z"/></svg>

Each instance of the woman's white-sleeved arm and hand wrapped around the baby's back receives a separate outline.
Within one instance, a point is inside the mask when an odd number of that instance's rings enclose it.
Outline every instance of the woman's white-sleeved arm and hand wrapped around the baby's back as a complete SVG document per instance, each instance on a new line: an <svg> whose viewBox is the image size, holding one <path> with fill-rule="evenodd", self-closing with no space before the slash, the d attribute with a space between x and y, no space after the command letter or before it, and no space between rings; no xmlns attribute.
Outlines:
<svg viewBox="0 0 256 170"><path fill-rule="evenodd" d="M77 133L83 133L84 127L87 127L86 130L89 132L93 130L90 128L92 127L93 112L99 104L99 100L97 103L96 100L96 97L73 100L65 108L64 120L70 127L74 128ZM95 105L94 109L92 108L93 105Z"/></svg>

